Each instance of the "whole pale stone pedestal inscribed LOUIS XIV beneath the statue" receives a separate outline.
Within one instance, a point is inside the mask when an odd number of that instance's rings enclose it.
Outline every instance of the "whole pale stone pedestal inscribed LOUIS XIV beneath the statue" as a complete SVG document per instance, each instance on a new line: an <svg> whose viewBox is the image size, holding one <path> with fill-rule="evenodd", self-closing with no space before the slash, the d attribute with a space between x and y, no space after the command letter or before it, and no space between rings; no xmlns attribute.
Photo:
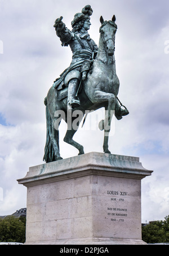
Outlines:
<svg viewBox="0 0 169 256"><path fill-rule="evenodd" d="M26 244L145 244L137 157L88 153L30 167Z"/></svg>

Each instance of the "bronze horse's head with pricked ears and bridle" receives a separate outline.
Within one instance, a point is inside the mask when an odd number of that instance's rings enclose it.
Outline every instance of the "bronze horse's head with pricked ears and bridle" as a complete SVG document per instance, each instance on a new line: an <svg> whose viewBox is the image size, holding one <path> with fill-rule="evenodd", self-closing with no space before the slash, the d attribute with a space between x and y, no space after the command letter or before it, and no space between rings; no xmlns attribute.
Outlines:
<svg viewBox="0 0 169 256"><path fill-rule="evenodd" d="M117 25L115 24L115 15L112 20L104 21L103 17L100 17L100 39L103 43L104 49L109 56L114 55L115 50L115 33L117 31Z"/></svg>

